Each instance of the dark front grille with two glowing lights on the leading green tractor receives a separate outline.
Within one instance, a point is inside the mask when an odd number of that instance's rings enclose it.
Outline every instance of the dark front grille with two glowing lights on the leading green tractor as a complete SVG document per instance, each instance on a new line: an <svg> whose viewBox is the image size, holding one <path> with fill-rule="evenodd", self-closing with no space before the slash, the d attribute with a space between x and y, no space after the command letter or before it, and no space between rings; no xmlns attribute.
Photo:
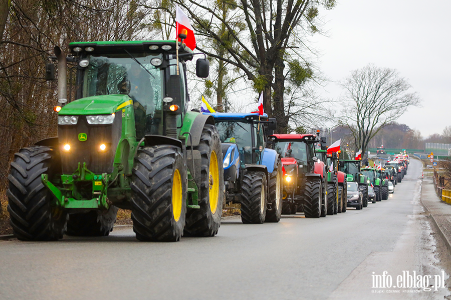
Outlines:
<svg viewBox="0 0 451 300"><path fill-rule="evenodd" d="M121 129L120 114L108 125L89 125L85 115L79 116L76 125L59 125L58 137L63 173L72 174L79 162L80 164L86 162L87 168L96 174L111 173ZM85 141L79 140L80 133L86 133ZM99 150L102 143L107 145L105 151ZM71 146L69 151L64 150L65 144Z"/></svg>

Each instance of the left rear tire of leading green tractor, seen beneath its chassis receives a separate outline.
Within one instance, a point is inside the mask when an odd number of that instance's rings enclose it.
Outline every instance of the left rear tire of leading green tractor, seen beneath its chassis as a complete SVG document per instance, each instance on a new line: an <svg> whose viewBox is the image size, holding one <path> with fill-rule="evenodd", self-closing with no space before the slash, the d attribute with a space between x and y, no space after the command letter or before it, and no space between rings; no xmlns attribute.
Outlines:
<svg viewBox="0 0 451 300"><path fill-rule="evenodd" d="M107 211L91 210L86 213L73 213L67 221L67 235L107 236L113 231L117 207L110 205Z"/></svg>

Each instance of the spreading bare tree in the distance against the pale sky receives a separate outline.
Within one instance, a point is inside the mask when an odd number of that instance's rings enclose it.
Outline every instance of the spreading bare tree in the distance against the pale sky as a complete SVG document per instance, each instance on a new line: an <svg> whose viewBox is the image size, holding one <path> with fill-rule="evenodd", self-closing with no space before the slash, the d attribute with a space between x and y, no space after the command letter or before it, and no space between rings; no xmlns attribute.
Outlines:
<svg viewBox="0 0 451 300"><path fill-rule="evenodd" d="M368 64L340 83L346 90L343 119L351 128L355 145L365 153L369 140L408 107L419 106L416 92L395 69Z"/></svg>

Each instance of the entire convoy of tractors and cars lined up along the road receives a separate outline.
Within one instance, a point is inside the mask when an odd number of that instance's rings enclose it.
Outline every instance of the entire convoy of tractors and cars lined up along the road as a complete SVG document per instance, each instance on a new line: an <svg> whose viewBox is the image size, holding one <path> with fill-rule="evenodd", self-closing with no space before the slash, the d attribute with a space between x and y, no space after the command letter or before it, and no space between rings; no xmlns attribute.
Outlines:
<svg viewBox="0 0 451 300"><path fill-rule="evenodd" d="M58 65L58 136L20 149L11 163L8 210L20 240L105 236L118 208L131 210L142 241L214 236L224 201L241 204L243 223L324 217L367 206L369 186L374 201L387 199L388 182L407 170L404 157L383 168L342 160L325 137L274 133L276 119L260 112L188 110L187 61L202 53L183 43L69 49L55 47L46 65L48 80ZM207 77L208 60L198 58L195 70Z"/></svg>

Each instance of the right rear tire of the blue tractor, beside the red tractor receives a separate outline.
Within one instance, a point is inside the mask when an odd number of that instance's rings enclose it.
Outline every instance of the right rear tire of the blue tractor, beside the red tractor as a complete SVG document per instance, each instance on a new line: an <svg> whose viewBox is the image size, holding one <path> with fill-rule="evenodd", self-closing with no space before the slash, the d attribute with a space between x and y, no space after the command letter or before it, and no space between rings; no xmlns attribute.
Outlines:
<svg viewBox="0 0 451 300"><path fill-rule="evenodd" d="M277 159L277 165L270 175L268 203L271 210L266 211L265 222L278 222L282 214L282 192L283 192L282 160ZM296 211L294 212L296 213Z"/></svg>

